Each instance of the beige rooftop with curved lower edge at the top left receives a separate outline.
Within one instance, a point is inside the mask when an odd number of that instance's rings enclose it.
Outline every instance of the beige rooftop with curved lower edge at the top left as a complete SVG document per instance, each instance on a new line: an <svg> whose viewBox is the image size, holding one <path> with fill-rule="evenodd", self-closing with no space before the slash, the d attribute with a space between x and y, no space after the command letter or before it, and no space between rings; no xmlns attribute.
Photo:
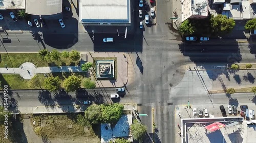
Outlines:
<svg viewBox="0 0 256 143"><path fill-rule="evenodd" d="M61 0L26 0L26 13L32 15L53 15L62 12Z"/></svg>

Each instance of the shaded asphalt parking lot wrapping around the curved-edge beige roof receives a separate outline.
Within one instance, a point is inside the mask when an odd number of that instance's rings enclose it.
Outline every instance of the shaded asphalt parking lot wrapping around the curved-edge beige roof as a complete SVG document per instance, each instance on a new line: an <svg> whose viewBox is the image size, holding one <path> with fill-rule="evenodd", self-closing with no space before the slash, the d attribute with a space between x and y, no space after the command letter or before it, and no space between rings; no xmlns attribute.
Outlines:
<svg viewBox="0 0 256 143"><path fill-rule="evenodd" d="M62 13L54 16L41 16L45 22L45 27L36 27L34 19L39 20L38 15L31 15L30 21L33 26L28 25L28 21L25 19L18 19L14 22L9 13L10 10L1 11L1 14L4 16L3 20L0 20L0 25L4 30L22 30L23 32L33 31L33 32L42 32L42 33L84 33L84 28L82 24L78 24L78 5L77 1L63 1L63 6L71 8L70 11L62 10ZM17 11L12 11L15 13L18 18ZM58 19L62 19L65 23L65 28L61 28ZM80 28L79 28L80 27Z"/></svg>

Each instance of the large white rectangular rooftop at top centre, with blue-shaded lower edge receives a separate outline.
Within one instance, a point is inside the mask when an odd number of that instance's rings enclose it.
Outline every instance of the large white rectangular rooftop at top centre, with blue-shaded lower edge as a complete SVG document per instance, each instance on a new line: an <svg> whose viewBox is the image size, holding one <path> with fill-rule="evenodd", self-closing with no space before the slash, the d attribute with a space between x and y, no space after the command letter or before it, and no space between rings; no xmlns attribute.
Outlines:
<svg viewBox="0 0 256 143"><path fill-rule="evenodd" d="M79 0L79 21L86 23L130 23L130 0Z"/></svg>

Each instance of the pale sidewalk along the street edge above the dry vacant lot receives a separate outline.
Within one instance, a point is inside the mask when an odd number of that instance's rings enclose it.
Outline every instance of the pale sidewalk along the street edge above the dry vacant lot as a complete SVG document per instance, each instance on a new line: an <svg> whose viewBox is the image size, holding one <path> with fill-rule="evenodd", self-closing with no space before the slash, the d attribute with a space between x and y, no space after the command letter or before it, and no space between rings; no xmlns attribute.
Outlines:
<svg viewBox="0 0 256 143"><path fill-rule="evenodd" d="M136 104L123 104L124 110L137 109ZM9 111L13 113L30 114L30 113L63 113L63 112L84 112L88 105L80 105L80 108L76 108L76 105L54 105L54 106L34 106L34 107L18 107L10 108Z"/></svg>

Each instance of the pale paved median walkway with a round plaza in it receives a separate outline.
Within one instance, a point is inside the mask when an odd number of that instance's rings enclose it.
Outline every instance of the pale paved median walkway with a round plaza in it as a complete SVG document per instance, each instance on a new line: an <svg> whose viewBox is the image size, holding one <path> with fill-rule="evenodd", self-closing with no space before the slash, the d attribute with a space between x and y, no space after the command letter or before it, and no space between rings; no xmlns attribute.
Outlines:
<svg viewBox="0 0 256 143"><path fill-rule="evenodd" d="M0 68L0 74L19 74L24 79L31 79L37 73L53 72L83 72L80 67L62 66L62 67L40 67L37 68L33 63L26 62L19 68Z"/></svg>

